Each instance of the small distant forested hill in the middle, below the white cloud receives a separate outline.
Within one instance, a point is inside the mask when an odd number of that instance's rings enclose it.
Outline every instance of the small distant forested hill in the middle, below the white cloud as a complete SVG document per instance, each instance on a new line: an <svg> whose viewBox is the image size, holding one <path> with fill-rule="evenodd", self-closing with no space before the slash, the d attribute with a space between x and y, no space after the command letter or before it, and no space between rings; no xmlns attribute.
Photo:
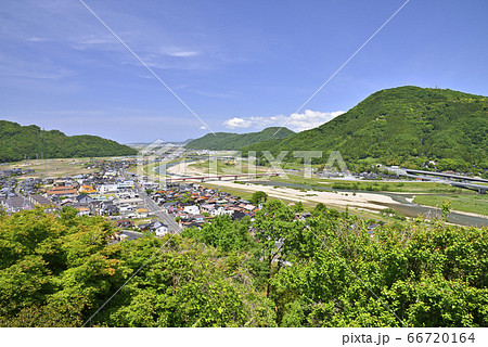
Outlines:
<svg viewBox="0 0 488 347"><path fill-rule="evenodd" d="M266 128L259 132L233 133L233 132L216 132L190 141L185 147L191 150L210 150L210 151L239 151L243 146L268 141L271 139L285 139L295 132L287 128L282 128L275 136L278 127Z"/></svg>

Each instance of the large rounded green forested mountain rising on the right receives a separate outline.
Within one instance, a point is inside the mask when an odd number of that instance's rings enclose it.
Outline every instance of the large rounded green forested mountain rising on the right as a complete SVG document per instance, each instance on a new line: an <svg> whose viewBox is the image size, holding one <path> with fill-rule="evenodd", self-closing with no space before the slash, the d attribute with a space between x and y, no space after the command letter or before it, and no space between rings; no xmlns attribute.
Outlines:
<svg viewBox="0 0 488 347"><path fill-rule="evenodd" d="M318 128L244 150L324 151L319 163L338 150L349 164L371 157L383 164L418 167L441 159L452 169L488 168L487 133L487 97L399 87L375 92Z"/></svg>

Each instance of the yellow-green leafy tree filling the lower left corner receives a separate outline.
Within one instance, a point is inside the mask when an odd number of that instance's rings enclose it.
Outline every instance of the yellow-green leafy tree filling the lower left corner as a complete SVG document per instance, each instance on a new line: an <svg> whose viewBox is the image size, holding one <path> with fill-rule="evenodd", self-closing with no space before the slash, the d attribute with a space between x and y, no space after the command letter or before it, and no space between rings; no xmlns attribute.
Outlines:
<svg viewBox="0 0 488 347"><path fill-rule="evenodd" d="M112 224L101 217L41 209L0 222L0 325L75 326L113 290L119 261L105 253Z"/></svg>

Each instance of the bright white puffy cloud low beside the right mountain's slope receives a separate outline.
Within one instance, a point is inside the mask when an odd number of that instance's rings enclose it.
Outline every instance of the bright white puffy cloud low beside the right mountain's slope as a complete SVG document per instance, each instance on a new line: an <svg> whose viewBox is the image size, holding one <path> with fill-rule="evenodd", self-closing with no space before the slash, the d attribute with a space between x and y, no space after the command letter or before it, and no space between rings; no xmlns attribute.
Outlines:
<svg viewBox="0 0 488 347"><path fill-rule="evenodd" d="M233 117L223 121L223 126L229 129L237 128L267 128L267 127L285 127L294 131L304 131L321 126L335 117L342 115L344 111L320 112L305 110L304 113L294 113L290 116L277 115L269 117Z"/></svg>

